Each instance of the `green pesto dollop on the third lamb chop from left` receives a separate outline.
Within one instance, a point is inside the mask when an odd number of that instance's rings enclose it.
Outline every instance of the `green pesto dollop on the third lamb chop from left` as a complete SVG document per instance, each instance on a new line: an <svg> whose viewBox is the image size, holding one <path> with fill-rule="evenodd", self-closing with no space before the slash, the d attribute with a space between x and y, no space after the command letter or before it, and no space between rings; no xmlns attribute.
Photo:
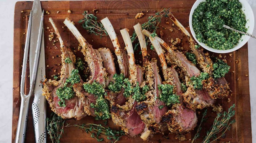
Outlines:
<svg viewBox="0 0 256 143"><path fill-rule="evenodd" d="M113 75L113 79L115 80L115 82L110 82L108 89L113 92L119 92L123 87L124 75L123 73L121 73L120 75L116 73Z"/></svg>

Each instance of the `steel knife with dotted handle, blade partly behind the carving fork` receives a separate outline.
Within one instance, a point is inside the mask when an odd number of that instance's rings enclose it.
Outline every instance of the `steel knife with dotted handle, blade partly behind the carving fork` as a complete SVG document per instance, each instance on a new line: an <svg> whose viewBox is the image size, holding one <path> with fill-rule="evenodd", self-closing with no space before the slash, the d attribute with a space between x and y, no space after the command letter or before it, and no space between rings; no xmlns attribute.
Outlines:
<svg viewBox="0 0 256 143"><path fill-rule="evenodd" d="M38 29L41 19L41 3L40 0L34 0L32 8L32 27ZM31 38L37 38L38 33L32 32ZM30 42L30 47L35 44L33 40ZM35 49L30 48L30 53L34 52ZM34 54L30 54L30 59L33 59ZM30 66L33 65L33 60L30 60ZM37 67L37 74L34 87L34 100L32 103L32 115L34 125L34 135L36 143L46 143L46 100L42 96L43 81L45 80L45 53L44 53L44 32L42 32L40 55Z"/></svg>

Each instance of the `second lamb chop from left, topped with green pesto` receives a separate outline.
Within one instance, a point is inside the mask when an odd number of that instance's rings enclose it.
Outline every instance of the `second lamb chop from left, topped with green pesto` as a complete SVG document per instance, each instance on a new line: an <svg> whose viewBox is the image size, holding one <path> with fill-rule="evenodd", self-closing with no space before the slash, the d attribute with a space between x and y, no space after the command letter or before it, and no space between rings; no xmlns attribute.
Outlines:
<svg viewBox="0 0 256 143"><path fill-rule="evenodd" d="M73 86L76 94L82 99L84 111L88 115L96 117L96 119L109 119L109 107L107 101L104 99L106 71L103 68L101 56L82 37L75 25L68 18L63 23L81 44L82 53L90 70L90 79L87 83L79 83Z"/></svg>

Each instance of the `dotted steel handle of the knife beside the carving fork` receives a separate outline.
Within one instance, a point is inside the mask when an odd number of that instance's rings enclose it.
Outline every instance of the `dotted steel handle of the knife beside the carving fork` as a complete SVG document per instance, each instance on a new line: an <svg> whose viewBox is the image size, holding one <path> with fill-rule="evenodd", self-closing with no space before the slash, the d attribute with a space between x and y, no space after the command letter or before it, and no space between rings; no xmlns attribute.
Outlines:
<svg viewBox="0 0 256 143"><path fill-rule="evenodd" d="M36 143L46 143L46 104L42 94L34 94L32 103L33 124Z"/></svg>

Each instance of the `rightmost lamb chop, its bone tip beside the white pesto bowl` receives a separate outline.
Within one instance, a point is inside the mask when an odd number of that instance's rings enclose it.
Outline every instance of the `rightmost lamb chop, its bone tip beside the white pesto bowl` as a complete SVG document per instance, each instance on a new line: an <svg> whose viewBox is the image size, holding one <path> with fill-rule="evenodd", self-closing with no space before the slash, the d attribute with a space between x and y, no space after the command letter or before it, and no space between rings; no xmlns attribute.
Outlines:
<svg viewBox="0 0 256 143"><path fill-rule="evenodd" d="M213 62L210 59L209 54L203 53L203 48L199 45L196 45L195 41L190 36L188 31L173 16L171 12L169 13L168 16L174 22L174 24L176 24L181 29L181 31L186 35L189 41L189 46L192 52L195 54L200 68L203 70L203 72L206 72L210 75L210 77L207 79L206 83L203 86L205 90L209 92L212 99L227 97L230 94L230 88L228 86L228 83L224 77L218 79L213 78ZM197 46L197 48L195 45Z"/></svg>

